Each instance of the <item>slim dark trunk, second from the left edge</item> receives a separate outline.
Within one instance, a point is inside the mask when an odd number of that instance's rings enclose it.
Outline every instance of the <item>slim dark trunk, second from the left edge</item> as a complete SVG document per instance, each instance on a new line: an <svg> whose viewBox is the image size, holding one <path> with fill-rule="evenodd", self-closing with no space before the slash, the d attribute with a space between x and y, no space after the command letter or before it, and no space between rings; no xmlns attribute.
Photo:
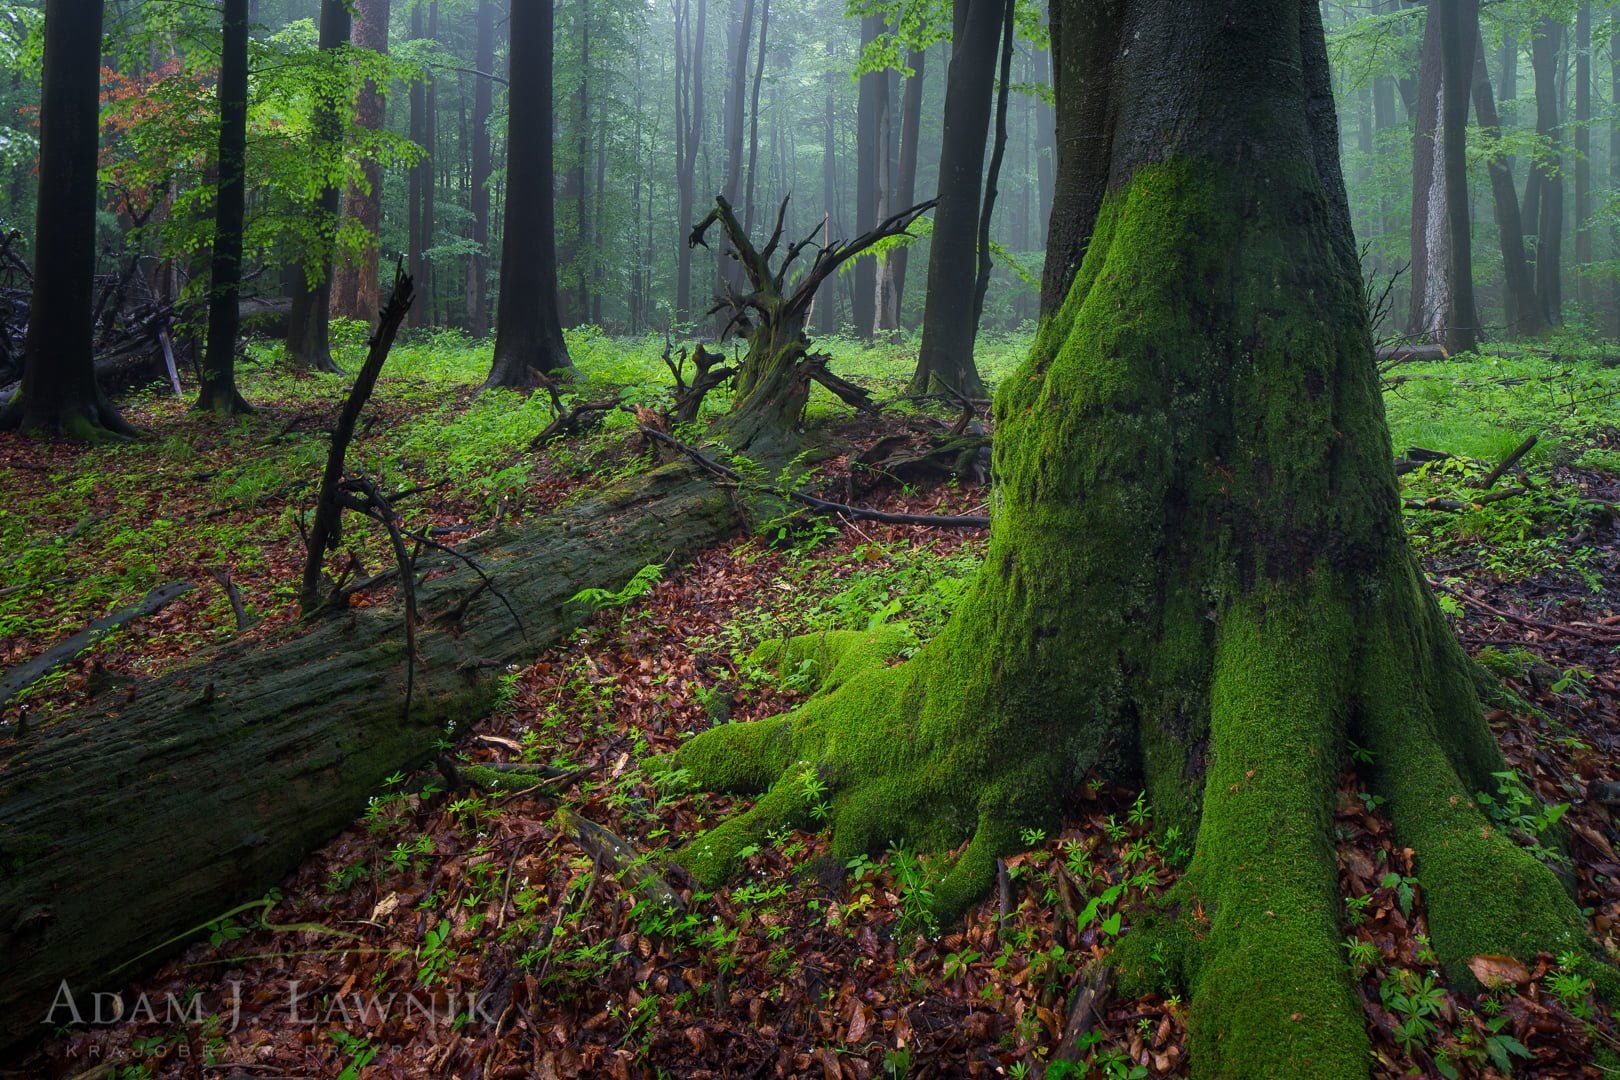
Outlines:
<svg viewBox="0 0 1620 1080"><path fill-rule="evenodd" d="M207 353L198 408L220 416L251 413L237 392L241 321L241 222L248 185L248 0L225 0L219 63L219 201L209 272Z"/></svg>

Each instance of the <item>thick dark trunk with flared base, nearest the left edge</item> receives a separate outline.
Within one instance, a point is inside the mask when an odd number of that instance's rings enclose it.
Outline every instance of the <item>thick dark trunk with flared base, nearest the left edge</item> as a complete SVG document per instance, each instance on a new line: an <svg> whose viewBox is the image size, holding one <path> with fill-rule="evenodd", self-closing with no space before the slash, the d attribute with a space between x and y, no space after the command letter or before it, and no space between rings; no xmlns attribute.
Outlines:
<svg viewBox="0 0 1620 1080"><path fill-rule="evenodd" d="M23 389L0 413L6 429L134 434L96 385L94 369L100 24L102 0L45 3L34 293Z"/></svg>

